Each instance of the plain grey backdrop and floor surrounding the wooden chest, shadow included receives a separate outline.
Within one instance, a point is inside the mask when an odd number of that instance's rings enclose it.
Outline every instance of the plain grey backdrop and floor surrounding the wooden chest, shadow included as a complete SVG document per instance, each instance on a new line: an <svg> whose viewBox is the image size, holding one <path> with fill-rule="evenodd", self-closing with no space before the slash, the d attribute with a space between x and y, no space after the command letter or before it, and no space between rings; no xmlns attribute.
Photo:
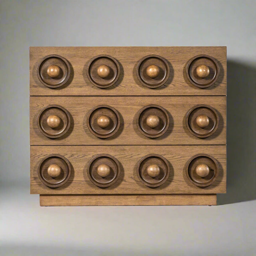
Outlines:
<svg viewBox="0 0 256 256"><path fill-rule="evenodd" d="M256 1L0 1L0 255L255 255ZM227 46L218 206L39 207L30 46Z"/></svg>

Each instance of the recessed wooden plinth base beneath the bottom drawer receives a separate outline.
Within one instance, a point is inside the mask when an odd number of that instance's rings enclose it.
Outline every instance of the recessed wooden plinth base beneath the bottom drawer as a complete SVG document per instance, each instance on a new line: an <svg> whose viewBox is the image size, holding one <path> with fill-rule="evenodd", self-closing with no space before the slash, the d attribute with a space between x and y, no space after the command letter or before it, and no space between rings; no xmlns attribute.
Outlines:
<svg viewBox="0 0 256 256"><path fill-rule="evenodd" d="M217 205L216 194L40 195L40 206Z"/></svg>

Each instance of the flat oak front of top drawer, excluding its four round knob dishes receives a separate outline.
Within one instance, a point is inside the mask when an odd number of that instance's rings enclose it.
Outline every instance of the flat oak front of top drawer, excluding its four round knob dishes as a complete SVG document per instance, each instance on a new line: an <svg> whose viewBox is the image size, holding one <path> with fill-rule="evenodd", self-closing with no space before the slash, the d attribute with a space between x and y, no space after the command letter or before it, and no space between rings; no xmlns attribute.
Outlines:
<svg viewBox="0 0 256 256"><path fill-rule="evenodd" d="M71 66L69 80L57 89L44 86L37 77L38 63L49 54L61 55ZM105 89L92 84L86 75L90 60L102 54L120 65L118 81ZM141 84L136 75L139 61L151 54L166 59L170 67L166 83L155 89ZM218 80L205 89L191 84L186 75L188 62L200 54L213 57L220 66ZM30 47L30 95L226 95L226 47Z"/></svg>

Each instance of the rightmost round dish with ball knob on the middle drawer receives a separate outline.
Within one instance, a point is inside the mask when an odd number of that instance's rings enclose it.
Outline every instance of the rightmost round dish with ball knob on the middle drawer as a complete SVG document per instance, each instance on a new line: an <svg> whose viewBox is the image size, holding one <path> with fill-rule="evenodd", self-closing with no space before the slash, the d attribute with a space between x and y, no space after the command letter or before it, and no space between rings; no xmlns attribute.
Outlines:
<svg viewBox="0 0 256 256"><path fill-rule="evenodd" d="M218 129L219 115L213 107L197 105L188 111L186 126L194 136L206 138Z"/></svg>

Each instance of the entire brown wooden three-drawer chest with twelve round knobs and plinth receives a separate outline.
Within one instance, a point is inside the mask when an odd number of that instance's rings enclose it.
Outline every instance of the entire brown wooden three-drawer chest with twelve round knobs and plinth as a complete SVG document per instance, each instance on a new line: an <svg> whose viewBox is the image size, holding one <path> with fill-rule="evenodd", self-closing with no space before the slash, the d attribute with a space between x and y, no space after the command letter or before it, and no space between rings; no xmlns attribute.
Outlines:
<svg viewBox="0 0 256 256"><path fill-rule="evenodd" d="M31 47L41 206L216 204L226 47Z"/></svg>

